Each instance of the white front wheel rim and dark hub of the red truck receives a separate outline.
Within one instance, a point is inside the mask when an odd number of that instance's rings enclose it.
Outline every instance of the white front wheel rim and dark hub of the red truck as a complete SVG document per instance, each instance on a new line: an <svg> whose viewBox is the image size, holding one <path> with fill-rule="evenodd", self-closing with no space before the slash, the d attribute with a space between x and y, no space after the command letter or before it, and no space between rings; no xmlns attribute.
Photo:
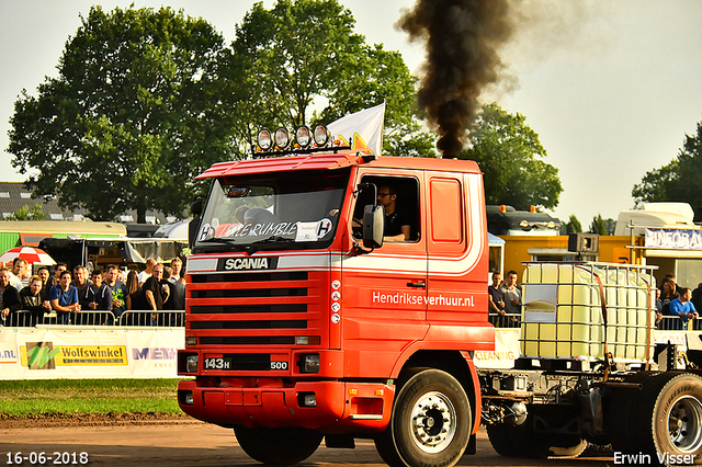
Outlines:
<svg viewBox="0 0 702 467"><path fill-rule="evenodd" d="M445 449L456 432L456 410L442 392L421 396L411 413L412 441L426 453Z"/></svg>

